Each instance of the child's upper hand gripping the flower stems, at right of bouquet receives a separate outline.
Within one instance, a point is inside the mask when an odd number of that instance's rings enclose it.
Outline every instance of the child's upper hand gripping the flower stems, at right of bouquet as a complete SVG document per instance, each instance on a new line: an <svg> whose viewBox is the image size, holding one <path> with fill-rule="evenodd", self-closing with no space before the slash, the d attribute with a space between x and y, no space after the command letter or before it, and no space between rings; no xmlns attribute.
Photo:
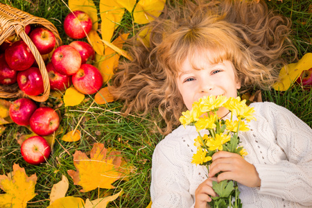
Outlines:
<svg viewBox="0 0 312 208"><path fill-rule="evenodd" d="M218 182L222 180L235 180L247 187L260 187L261 180L254 165L245 161L236 153L220 151L212 155L212 163L209 167L209 177L218 175Z"/></svg>

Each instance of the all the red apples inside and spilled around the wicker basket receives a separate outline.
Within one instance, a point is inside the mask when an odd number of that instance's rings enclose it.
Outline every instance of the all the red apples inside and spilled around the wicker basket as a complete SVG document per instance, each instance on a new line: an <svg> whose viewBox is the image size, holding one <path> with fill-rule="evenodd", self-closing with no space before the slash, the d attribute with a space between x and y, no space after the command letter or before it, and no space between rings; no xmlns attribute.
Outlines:
<svg viewBox="0 0 312 208"><path fill-rule="evenodd" d="M91 45L75 40L55 49L55 36L49 29L32 27L33 25L27 25L25 32L42 55L51 90L64 91L73 85L83 94L98 92L103 85L103 78L100 71L91 64L95 58ZM92 19L83 11L73 11L64 19L64 31L72 39L86 37L91 29ZM44 92L42 75L35 57L16 34L8 37L0 46L0 85L14 83L29 96ZM12 121L18 125L30 125L31 130L39 135L26 139L21 145L21 155L25 161L29 164L44 162L49 157L51 148L43 137L58 129L58 113L51 107L38 108L29 98L19 98L11 103L9 114Z"/></svg>

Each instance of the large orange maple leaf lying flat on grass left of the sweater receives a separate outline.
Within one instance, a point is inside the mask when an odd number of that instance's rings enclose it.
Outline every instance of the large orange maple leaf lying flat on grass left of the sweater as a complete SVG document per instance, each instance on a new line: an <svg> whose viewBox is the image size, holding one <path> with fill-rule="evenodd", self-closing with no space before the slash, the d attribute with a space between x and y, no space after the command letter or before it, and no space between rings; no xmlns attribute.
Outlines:
<svg viewBox="0 0 312 208"><path fill-rule="evenodd" d="M94 189L112 189L112 183L125 177L125 160L121 153L114 149L108 150L104 144L94 144L90 158L85 153L76 150L73 154L73 164L77 171L69 170L73 184L83 187L81 192Z"/></svg>

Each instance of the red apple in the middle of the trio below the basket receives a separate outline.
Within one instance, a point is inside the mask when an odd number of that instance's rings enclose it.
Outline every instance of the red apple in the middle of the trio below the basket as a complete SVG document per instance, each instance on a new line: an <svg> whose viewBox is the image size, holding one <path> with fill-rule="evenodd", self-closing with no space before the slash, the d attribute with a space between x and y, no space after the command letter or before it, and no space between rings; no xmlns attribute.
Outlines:
<svg viewBox="0 0 312 208"><path fill-rule="evenodd" d="M40 136L51 135L60 125L58 113L51 107L39 107L29 121L31 130Z"/></svg>

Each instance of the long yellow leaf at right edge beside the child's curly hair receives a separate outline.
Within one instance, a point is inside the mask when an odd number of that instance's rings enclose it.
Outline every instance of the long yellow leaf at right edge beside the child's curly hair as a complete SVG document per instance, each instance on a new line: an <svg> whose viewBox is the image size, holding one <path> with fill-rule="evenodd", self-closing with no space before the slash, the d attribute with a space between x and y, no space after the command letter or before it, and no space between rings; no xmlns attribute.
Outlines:
<svg viewBox="0 0 312 208"><path fill-rule="evenodd" d="M286 91L295 83L302 71L309 70L311 67L312 53L306 53L297 63L288 64L286 67L281 68L279 72L281 81L275 83L273 88L279 91Z"/></svg>

